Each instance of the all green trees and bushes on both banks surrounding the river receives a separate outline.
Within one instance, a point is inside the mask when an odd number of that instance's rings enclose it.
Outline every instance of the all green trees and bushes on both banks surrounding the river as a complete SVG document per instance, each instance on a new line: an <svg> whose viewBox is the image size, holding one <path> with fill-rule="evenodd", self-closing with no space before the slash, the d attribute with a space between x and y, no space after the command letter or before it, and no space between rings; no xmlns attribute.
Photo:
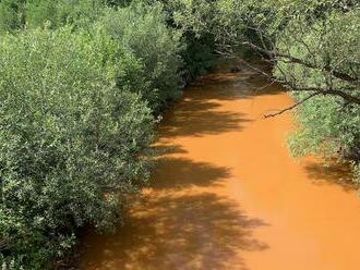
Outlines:
<svg viewBox="0 0 360 270"><path fill-rule="evenodd" d="M83 229L116 230L163 113L219 58L271 66L291 155L360 183L357 0L0 0L1 269L58 269Z"/></svg>

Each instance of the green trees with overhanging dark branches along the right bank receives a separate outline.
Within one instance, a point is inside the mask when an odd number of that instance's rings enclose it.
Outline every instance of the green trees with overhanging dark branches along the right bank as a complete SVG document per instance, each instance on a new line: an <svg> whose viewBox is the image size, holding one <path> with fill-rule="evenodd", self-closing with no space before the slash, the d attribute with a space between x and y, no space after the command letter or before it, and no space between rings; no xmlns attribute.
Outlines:
<svg viewBox="0 0 360 270"><path fill-rule="evenodd" d="M182 2L182 1L179 1ZM219 53L247 63L251 50L274 66L298 103L295 155L340 156L360 181L360 5L355 0L197 0L175 15L197 35L212 33ZM358 175L358 176L357 176Z"/></svg>

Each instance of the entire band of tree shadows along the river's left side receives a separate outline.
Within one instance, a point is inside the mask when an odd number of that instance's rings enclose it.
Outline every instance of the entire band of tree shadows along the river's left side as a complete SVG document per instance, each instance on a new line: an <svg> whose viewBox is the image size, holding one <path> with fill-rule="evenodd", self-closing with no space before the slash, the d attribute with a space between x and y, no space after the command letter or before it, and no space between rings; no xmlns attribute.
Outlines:
<svg viewBox="0 0 360 270"><path fill-rule="evenodd" d="M155 147L164 156L152 187L131 201L124 225L116 234L87 236L81 269L247 270L241 253L268 248L253 235L267 224L248 217L238 202L216 192L231 176L229 168L191 160L172 140L239 131L251 121L220 110L219 100L251 95L233 87L229 78L217 79L206 87L192 86L167 113Z"/></svg>

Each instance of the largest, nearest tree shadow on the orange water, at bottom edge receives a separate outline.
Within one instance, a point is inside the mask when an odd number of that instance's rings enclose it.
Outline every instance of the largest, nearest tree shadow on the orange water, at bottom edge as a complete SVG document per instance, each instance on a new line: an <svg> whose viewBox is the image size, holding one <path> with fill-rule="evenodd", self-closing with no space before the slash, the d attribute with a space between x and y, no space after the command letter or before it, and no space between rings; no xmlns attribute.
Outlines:
<svg viewBox="0 0 360 270"><path fill-rule="evenodd" d="M268 248L252 237L263 221L212 193L157 193L133 211L118 234L95 236L89 269L245 270L239 251Z"/></svg>

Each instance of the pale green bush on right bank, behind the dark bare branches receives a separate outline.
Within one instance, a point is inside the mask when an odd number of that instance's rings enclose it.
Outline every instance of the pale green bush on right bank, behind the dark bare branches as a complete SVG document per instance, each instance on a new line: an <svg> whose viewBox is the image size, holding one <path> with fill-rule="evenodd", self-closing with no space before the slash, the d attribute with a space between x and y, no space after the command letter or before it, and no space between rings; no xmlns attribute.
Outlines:
<svg viewBox="0 0 360 270"><path fill-rule="evenodd" d="M298 30L295 36L293 29ZM323 66L335 66L337 71L357 77L360 74L360 12L358 9L346 13L333 11L323 14L322 20L307 22L293 20L284 29L279 48L292 56L311 60ZM299 42L303 40L303 44ZM319 49L321 48L321 50ZM288 81L295 79L299 87L322 87L328 84L353 97L360 97L359 87L335 78L321 70L312 70L295 63L279 61L275 74ZM302 100L311 93L295 93ZM325 154L340 155L360 164L360 107L347 103L340 97L320 96L304 102L296 112L299 130L291 137L290 148L295 155ZM360 177L356 177L360 181Z"/></svg>

